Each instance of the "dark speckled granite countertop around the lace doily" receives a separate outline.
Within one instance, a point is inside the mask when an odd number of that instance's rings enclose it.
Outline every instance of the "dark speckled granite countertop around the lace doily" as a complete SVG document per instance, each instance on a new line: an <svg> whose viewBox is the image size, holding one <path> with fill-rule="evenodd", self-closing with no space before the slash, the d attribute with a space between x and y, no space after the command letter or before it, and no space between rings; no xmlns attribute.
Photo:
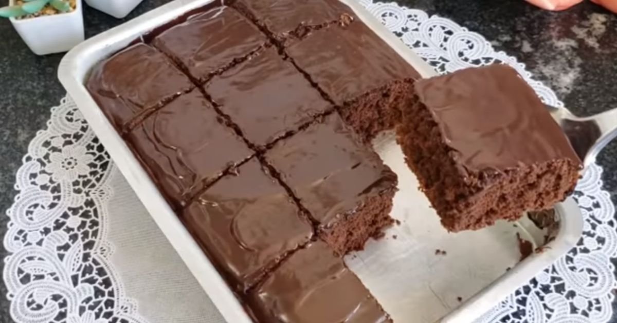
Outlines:
<svg viewBox="0 0 617 323"><path fill-rule="evenodd" d="M168 0L144 1L129 17L85 8L86 36L112 28ZM547 12L523 0L398 0L399 4L447 17L484 35L497 50L515 55L536 79L555 90L576 114L617 107L617 15L586 1L565 12ZM44 129L51 106L65 95L57 81L62 55L38 57L7 20L0 20L0 209L14 199L15 172L36 131ZM617 203L617 142L598 156L605 189ZM8 218L0 216L0 236ZM0 246L0 258L5 251ZM2 265L0 265L2 266ZM9 302L0 284L0 322L10 322ZM615 305L613 306L615 308ZM617 320L613 320L617 321Z"/></svg>

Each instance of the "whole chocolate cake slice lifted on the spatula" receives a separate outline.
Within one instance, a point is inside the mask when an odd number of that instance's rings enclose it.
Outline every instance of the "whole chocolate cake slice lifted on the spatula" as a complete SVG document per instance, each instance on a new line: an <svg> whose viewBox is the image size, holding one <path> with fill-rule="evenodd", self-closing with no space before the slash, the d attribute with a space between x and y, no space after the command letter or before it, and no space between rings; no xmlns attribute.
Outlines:
<svg viewBox="0 0 617 323"><path fill-rule="evenodd" d="M570 194L581 161L534 90L506 65L416 82L397 140L449 231L516 220Z"/></svg>

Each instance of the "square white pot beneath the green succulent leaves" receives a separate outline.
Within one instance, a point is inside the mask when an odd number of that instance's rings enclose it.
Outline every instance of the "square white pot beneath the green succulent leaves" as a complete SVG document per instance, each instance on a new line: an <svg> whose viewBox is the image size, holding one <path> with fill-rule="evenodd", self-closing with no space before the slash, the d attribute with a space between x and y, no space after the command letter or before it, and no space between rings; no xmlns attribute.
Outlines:
<svg viewBox="0 0 617 323"><path fill-rule="evenodd" d="M14 5L15 0L9 4ZM82 12L81 0L77 0L77 9L67 14L10 18L10 22L36 55L54 54L67 52L84 41Z"/></svg>

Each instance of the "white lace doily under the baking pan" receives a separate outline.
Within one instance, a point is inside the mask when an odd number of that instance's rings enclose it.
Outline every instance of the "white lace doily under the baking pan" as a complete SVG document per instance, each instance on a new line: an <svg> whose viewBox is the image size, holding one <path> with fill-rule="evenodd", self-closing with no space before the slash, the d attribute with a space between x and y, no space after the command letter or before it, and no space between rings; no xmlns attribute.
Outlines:
<svg viewBox="0 0 617 323"><path fill-rule="evenodd" d="M421 10L371 0L362 3L440 73L471 65L507 63L526 78L545 103L563 106L552 90L531 78L523 64L503 52L495 52L481 35L451 20L429 17ZM617 287L610 261L617 257L617 231L613 220L615 207L609 194L602 190L601 174L602 169L592 165L574 193L585 218L584 235L578 246L478 322L608 321L612 314L612 291ZM11 301L10 314L16 322L146 322L141 316L145 309L154 308L151 313L157 310L157 306L152 306L155 300L139 294L139 289L129 294L135 298L126 295L134 281L142 279L145 282L141 286L152 285L154 278L140 277L137 268L134 271L138 274L131 276L131 284L122 282L120 277L126 277L125 273L118 270L120 264L115 267L111 261L114 252L133 250L129 245L135 241L110 241L110 221L137 217L136 210L143 210L135 196L125 193L130 189L124 181L110 180L115 176L117 169L77 107L70 98L63 99L52 108L48 129L39 131L30 143L17 172L15 189L19 194L7 211L10 222L4 245L9 255L4 260L4 282ZM125 199L133 205L112 205L114 212L109 212L114 191L128 194ZM143 239L157 240L158 245L167 243L160 233ZM144 248L157 244L148 242ZM139 254L142 253L144 250L140 249ZM137 257L128 252L123 259L133 256ZM149 266L155 264L151 262ZM180 271L188 275L183 268L172 272ZM184 289L199 290L191 279L178 281L189 281ZM216 312L211 303L207 306L209 311ZM144 315L157 321L151 316ZM160 317L159 321L165 322ZM218 313L205 319L220 320ZM184 321L203 322L204 315Z"/></svg>

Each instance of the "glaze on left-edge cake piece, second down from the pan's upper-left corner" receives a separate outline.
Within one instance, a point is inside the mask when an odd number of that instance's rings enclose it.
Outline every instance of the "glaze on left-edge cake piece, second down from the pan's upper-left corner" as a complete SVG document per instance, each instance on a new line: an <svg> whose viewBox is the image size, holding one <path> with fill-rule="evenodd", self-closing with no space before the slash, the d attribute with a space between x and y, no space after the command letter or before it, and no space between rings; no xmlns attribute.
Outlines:
<svg viewBox="0 0 617 323"><path fill-rule="evenodd" d="M149 116L127 141L176 206L253 153L198 90Z"/></svg>

